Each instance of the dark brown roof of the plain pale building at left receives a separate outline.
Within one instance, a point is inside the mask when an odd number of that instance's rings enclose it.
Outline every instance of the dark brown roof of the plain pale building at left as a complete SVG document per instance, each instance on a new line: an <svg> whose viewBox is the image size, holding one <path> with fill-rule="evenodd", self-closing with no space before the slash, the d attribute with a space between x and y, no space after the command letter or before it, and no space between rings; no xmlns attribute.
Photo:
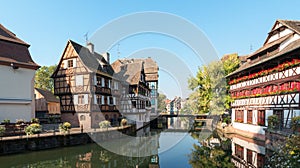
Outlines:
<svg viewBox="0 0 300 168"><path fill-rule="evenodd" d="M13 63L23 68L38 69L40 66L32 60L29 46L0 24L0 64L10 66Z"/></svg>

